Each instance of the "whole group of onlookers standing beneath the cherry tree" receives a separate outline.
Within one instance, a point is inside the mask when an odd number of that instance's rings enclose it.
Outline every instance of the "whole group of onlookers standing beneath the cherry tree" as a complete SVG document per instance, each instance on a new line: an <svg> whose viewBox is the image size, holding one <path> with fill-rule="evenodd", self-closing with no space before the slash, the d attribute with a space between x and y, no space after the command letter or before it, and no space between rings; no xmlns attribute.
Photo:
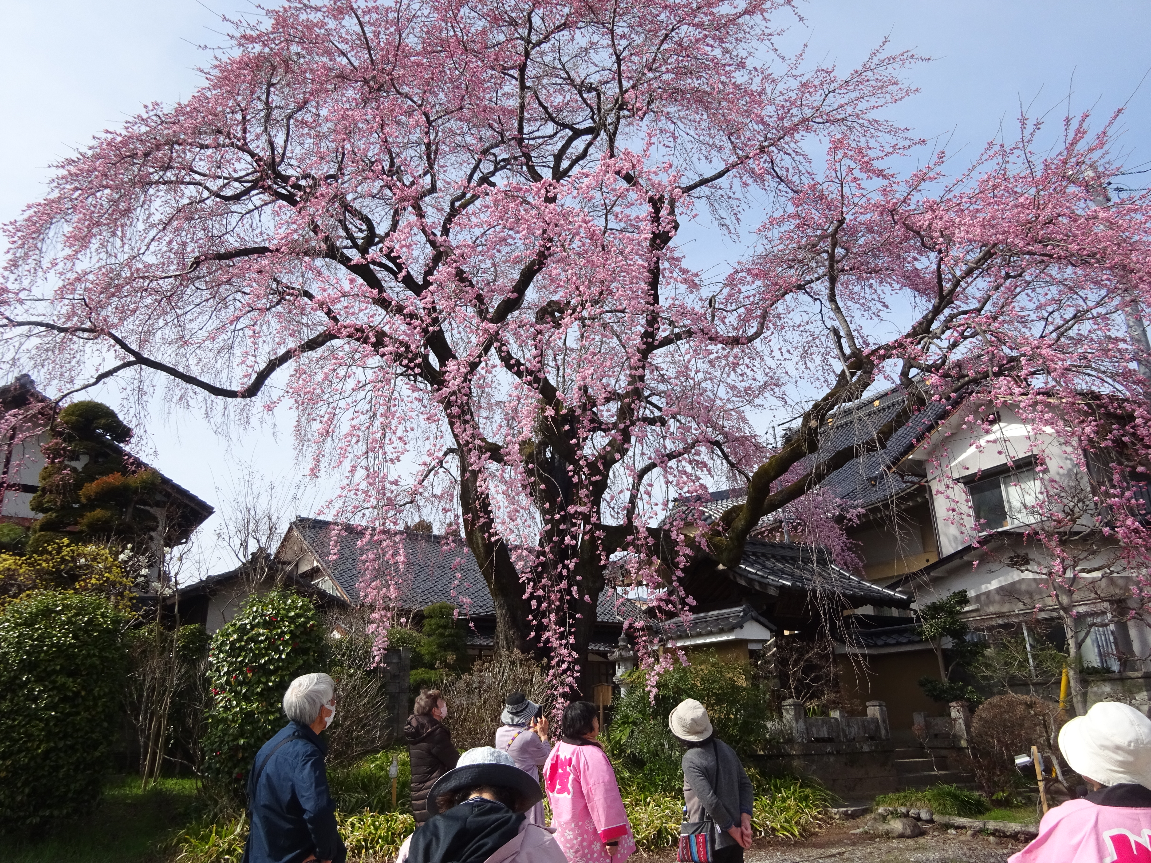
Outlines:
<svg viewBox="0 0 1151 863"><path fill-rule="evenodd" d="M335 683L327 674L297 678L283 708L290 721L264 744L249 776L244 858L343 863L320 738L336 711ZM552 739L540 705L512 693L494 746L463 755L447 717L442 694L424 692L404 728L417 827L397 863L624 863L634 853L593 704L567 704ZM684 748L678 860L742 863L754 789L739 756L715 736L698 701L681 702L668 725ZM1052 809L1013 863L1151 861L1151 720L1127 704L1096 704L1062 727L1059 747L1090 791Z"/></svg>

